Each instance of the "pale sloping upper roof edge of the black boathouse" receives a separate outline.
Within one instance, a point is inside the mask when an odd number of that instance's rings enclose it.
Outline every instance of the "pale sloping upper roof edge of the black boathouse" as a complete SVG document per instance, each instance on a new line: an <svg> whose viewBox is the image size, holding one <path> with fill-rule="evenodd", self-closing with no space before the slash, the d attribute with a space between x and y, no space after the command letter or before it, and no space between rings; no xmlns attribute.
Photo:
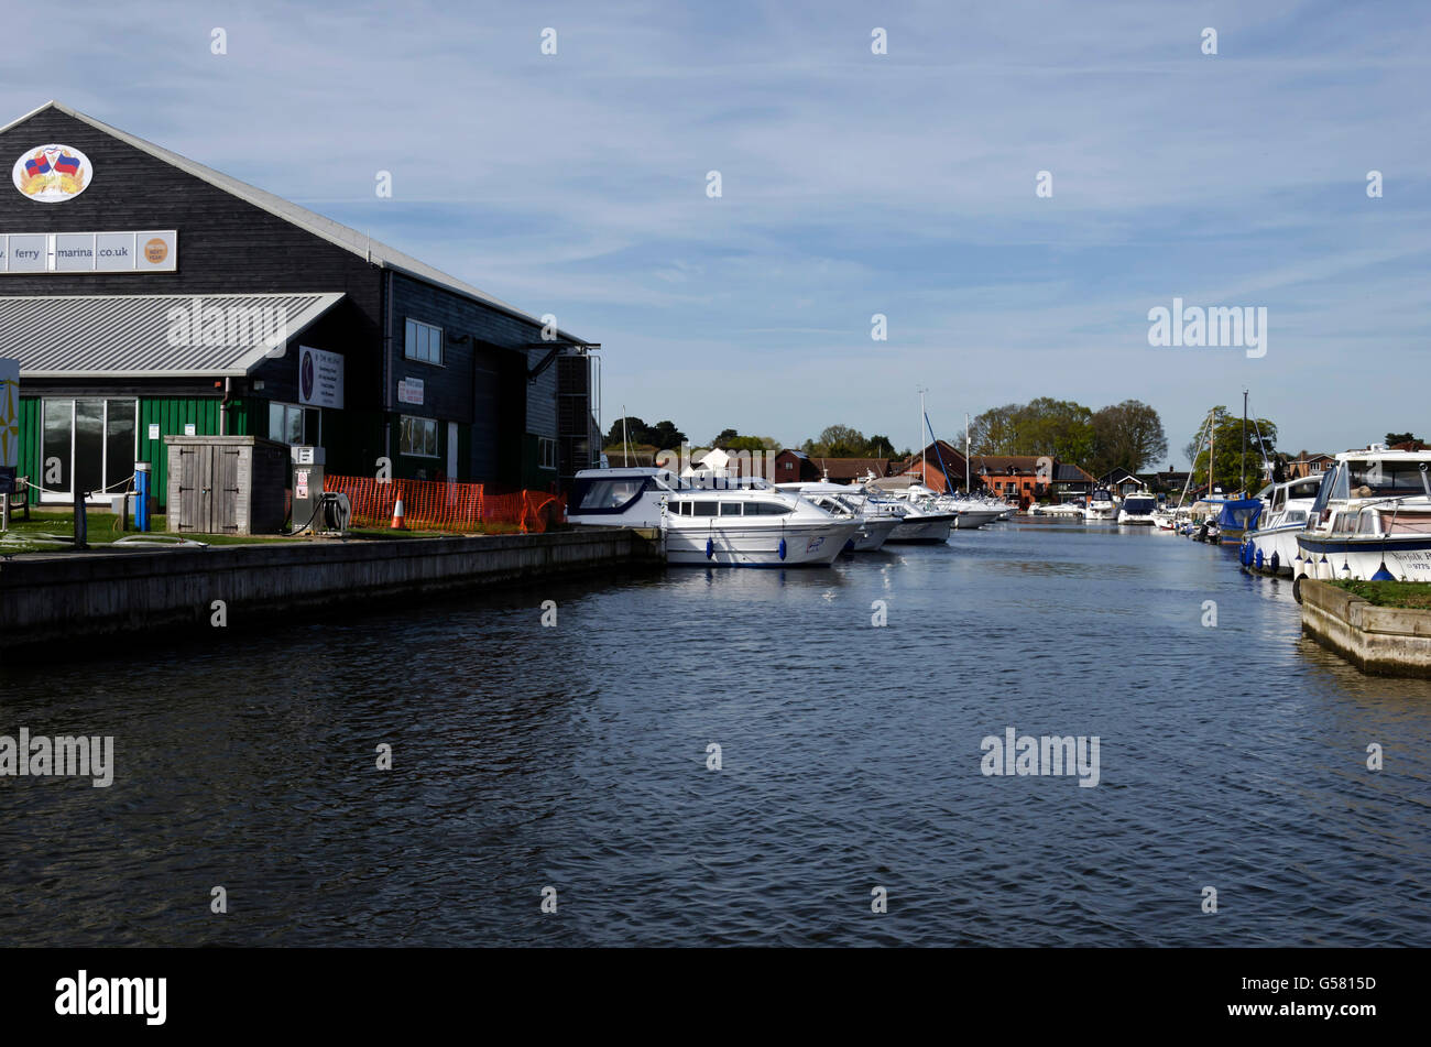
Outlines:
<svg viewBox="0 0 1431 1047"><path fill-rule="evenodd" d="M280 217L285 222L295 225L299 229L312 233L313 236L318 236L319 239L328 240L329 243L333 243L345 250L349 250L353 255L365 257L372 265L376 265L382 269L392 269L394 272L404 273L405 276L412 276L419 280L425 280L426 283L432 283L438 287L444 287L465 298L471 298L477 302L481 302L482 305L499 309L504 313L515 316L519 320L527 320L528 323L535 323L537 326L542 326L542 322L538 320L535 316L524 313L521 309L517 309L515 306L511 306L498 298L492 298L485 290L478 290L472 285L464 283L455 276L444 273L441 269L434 269L432 266L426 265L425 262L419 262L411 255L404 255L396 247L389 247L385 243L379 243L366 233L359 233L356 229L349 229L345 225L339 225L338 222L333 222L329 217L323 217L318 212L301 207L296 203L285 200L280 196L275 196L273 193L269 193L263 189L258 189L256 186L250 186L246 182L239 182L236 177L225 174L223 172L218 172L213 167L205 167L202 163L190 160L186 156L180 156L179 153L165 149L163 146L156 146L152 142L146 142L145 139L140 139L135 134L122 132L117 127L110 127L107 123L96 120L93 116L80 113L79 110L70 109L69 106L60 104L59 102L53 100L46 102L43 106L26 113L20 119L11 120L10 123L0 126L0 134L10 130L11 127L19 127L21 123L31 120L40 113L49 112L52 109L59 113L64 113L66 116L79 120L80 123L86 123L94 130L102 132L103 134L109 134L113 139L119 139L124 144L133 146L142 153L149 153L156 160L163 160L172 167L177 167L186 174L192 174L200 182L207 182L215 189L222 189L223 192L236 196L240 200L250 203L255 207L259 207L260 210L266 210L269 215L273 215L275 217ZM557 335L561 339L565 339L575 345L592 345L580 338L572 338L564 330L558 330Z"/></svg>

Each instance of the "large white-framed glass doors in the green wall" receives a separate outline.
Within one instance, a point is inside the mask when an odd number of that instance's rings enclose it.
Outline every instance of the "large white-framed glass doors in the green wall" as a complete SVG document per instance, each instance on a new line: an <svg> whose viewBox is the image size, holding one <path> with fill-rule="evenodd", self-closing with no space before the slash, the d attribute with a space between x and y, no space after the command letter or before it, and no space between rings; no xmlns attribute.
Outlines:
<svg viewBox="0 0 1431 1047"><path fill-rule="evenodd" d="M106 488L123 491L139 453L137 416L139 400L44 400L40 453L46 468L33 479L57 493L41 501L73 501L76 485L94 498L109 498L102 493ZM52 463L59 465L57 475Z"/></svg>

